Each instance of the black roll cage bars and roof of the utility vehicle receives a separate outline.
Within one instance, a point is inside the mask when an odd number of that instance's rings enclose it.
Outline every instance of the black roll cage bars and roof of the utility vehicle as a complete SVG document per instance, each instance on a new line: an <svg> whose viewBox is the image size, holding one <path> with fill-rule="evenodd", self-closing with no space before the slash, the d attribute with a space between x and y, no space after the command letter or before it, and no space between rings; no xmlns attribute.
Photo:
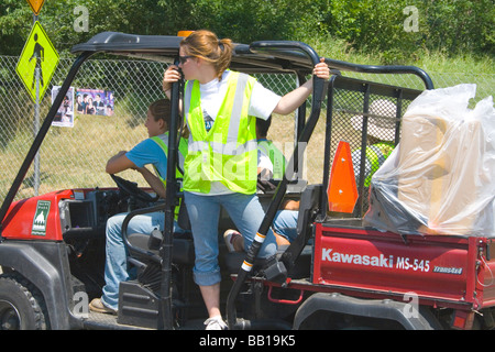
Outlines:
<svg viewBox="0 0 495 352"><path fill-rule="evenodd" d="M92 55L98 53L105 53L110 55L134 57L140 59L150 59L163 63L178 62L179 44L183 37L179 36L166 36L166 35L134 35L117 32L103 32L95 35L88 42L75 45L72 48L72 53L77 55L65 81L62 85L59 94L57 95L53 106L51 107L37 135L35 136L26 157L24 158L19 173L0 208L0 231L1 223L11 206L33 160L36 155L44 138L46 136L52 121L62 105L63 97L65 97L69 89L77 72L80 66ZM243 72L246 74L295 74L300 82L306 80L308 75L311 75L312 67L319 63L319 55L307 44L293 41L260 41L251 44L234 44L234 52L231 61L230 68L233 70ZM340 75L341 70L355 72L355 73L373 73L373 74L411 74L418 76L425 84L426 89L432 89L433 85L430 77L420 68L414 66L371 66L371 65L356 65L345 63L341 61L326 58L326 63L330 66L332 73L336 76ZM334 77L336 77L334 76ZM161 317L163 318L163 328L172 328L170 301L169 297L169 279L166 279L166 273L170 272L170 251L172 251L172 234L174 222L174 209L178 204L179 187L177 185L175 167L177 158L177 127L180 122L179 117L179 95L182 91L182 85L184 82L176 82L172 89L172 119L169 125L169 140L168 140L168 163L167 163L167 187L165 199L165 231L164 240L161 245L162 255L162 273L164 273L164 279L162 283L161 292L163 301L161 302ZM316 127L316 123L321 113L321 106L326 99L328 81L315 77L314 79L314 92L310 116L306 119L306 105L302 105L298 109L297 113L297 142L293 157L289 161L287 169L294 172L298 170L298 146L300 143L309 141L311 133ZM326 148L327 153L327 148ZM287 189L287 185L293 175L284 175L283 180L278 184L277 190L272 198L265 218L260 227L258 232L266 234L268 228L275 217L284 195ZM324 195L321 195L323 197ZM322 198L321 198L322 199ZM323 204L323 200L321 200ZM1 234L1 232L0 232ZM1 238L0 238L1 240ZM246 254L245 261L253 263L260 249L257 242L253 242ZM238 279L231 289L228 298L228 322L230 327L235 326L237 318L233 309L235 297L239 294L240 285L246 276L246 272L240 271ZM239 284L238 284L239 283Z"/></svg>

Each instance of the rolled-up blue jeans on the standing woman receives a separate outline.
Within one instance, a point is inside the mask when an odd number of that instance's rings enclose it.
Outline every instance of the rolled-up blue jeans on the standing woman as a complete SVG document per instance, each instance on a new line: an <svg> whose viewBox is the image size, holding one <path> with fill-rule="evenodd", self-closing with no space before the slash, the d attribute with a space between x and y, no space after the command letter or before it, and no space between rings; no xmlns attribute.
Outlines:
<svg viewBox="0 0 495 352"><path fill-rule="evenodd" d="M195 241L195 283L199 286L218 284L221 280L218 265L220 206L227 210L235 227L242 233L245 249L249 249L253 242L265 213L256 195L202 196L185 191L184 197ZM270 230L257 256L268 257L274 255L276 251L275 235Z"/></svg>

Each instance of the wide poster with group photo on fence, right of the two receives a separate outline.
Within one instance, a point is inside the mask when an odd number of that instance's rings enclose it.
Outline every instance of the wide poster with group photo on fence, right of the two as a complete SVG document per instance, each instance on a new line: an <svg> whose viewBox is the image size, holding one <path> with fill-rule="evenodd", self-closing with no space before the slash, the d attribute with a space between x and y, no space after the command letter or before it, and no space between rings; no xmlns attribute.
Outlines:
<svg viewBox="0 0 495 352"><path fill-rule="evenodd" d="M113 114L113 91L78 88L76 90L76 113L111 117Z"/></svg>

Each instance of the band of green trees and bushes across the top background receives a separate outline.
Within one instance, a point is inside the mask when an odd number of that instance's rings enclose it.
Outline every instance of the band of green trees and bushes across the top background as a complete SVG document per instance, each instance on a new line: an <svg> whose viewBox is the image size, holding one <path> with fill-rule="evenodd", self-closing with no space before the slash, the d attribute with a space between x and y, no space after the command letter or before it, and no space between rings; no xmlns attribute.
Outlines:
<svg viewBox="0 0 495 352"><path fill-rule="evenodd" d="M89 11L88 32L74 30L78 6ZM407 7L418 10L418 31L405 31ZM209 29L239 43L330 37L386 63L408 61L420 48L494 55L494 19L493 0L57 0L40 14L62 55L103 31L175 35ZM2 0L0 55L21 53L32 22L26 1Z"/></svg>

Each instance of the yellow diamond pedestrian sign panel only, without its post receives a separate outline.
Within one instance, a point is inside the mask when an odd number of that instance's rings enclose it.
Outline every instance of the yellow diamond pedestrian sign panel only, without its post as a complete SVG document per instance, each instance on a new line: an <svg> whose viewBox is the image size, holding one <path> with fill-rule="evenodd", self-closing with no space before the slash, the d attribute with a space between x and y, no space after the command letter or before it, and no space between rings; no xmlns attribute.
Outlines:
<svg viewBox="0 0 495 352"><path fill-rule="evenodd" d="M36 91L38 91L40 100L45 95L57 65L58 53L43 26L36 21L15 66L15 72L34 101L36 101Z"/></svg>

